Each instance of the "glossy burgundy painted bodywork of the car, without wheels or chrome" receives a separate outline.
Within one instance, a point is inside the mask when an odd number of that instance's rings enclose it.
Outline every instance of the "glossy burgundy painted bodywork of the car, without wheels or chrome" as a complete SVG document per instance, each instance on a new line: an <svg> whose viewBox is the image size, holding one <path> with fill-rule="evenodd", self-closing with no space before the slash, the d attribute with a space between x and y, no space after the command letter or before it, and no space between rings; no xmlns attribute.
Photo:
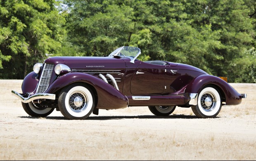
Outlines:
<svg viewBox="0 0 256 161"><path fill-rule="evenodd" d="M184 93L199 93L204 85L209 84L222 91L227 105L239 104L242 100L242 96L224 80L186 64L166 62L167 65L155 65L139 60L130 63L129 58L118 57L52 57L46 59L45 63L54 66L65 64L71 68L70 73L62 76L53 71L45 93L59 92L76 82L88 83L97 92L98 109L119 109L127 105L184 105L189 101ZM117 85L120 92L101 80L100 73L104 76L109 73L119 80ZM31 72L24 78L23 93L36 89L36 76ZM151 96L151 99L133 100L132 96Z"/></svg>

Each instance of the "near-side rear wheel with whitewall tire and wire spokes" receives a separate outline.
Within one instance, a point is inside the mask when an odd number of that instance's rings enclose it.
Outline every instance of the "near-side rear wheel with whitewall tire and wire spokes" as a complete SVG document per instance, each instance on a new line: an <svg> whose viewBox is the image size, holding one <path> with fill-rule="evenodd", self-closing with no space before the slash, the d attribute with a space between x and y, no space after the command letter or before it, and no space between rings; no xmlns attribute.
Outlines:
<svg viewBox="0 0 256 161"><path fill-rule="evenodd" d="M221 106L220 92L213 87L206 87L199 92L197 105L191 108L199 118L214 118L219 114Z"/></svg>

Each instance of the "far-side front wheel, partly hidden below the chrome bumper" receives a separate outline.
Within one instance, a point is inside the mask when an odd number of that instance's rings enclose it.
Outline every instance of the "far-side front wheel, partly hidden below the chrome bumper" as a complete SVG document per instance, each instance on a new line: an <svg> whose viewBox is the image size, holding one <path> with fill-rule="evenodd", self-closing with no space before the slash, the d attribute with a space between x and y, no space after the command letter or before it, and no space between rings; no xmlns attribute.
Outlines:
<svg viewBox="0 0 256 161"><path fill-rule="evenodd" d="M40 104L34 104L33 102L21 102L21 104L26 113L33 117L46 117L50 115L54 110L54 108L46 108L41 106Z"/></svg>

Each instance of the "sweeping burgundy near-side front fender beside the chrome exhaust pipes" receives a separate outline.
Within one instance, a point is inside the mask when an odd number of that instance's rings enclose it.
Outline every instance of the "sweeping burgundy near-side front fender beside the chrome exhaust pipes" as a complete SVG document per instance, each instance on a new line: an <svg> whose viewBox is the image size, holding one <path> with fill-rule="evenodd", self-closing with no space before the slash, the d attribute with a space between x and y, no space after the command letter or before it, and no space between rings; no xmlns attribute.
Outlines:
<svg viewBox="0 0 256 161"><path fill-rule="evenodd" d="M119 90L85 73L67 73L57 78L45 91L45 93L55 93L58 90L76 82L83 82L92 85L97 92L97 109L120 109L128 106L128 99Z"/></svg>

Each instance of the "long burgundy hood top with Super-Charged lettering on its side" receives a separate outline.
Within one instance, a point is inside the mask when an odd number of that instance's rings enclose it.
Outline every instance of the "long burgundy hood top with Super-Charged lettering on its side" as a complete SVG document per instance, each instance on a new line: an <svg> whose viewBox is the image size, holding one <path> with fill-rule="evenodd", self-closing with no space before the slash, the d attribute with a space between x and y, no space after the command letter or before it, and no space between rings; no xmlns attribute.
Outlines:
<svg viewBox="0 0 256 161"><path fill-rule="evenodd" d="M45 63L65 64L71 69L125 68L123 59L114 57L51 57Z"/></svg>

